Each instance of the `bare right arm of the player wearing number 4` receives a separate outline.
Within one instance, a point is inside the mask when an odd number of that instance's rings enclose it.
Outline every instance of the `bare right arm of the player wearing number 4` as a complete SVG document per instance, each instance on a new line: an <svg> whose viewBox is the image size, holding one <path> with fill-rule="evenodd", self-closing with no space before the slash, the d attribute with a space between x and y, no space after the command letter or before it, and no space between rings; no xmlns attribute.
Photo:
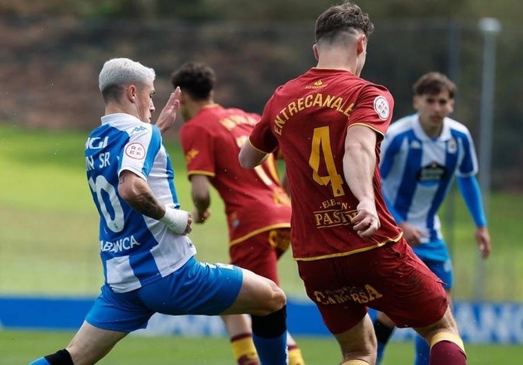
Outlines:
<svg viewBox="0 0 523 365"><path fill-rule="evenodd" d="M360 237L370 237L379 228L373 187L376 141L371 128L357 125L347 129L343 170L348 187L359 201L353 229Z"/></svg>

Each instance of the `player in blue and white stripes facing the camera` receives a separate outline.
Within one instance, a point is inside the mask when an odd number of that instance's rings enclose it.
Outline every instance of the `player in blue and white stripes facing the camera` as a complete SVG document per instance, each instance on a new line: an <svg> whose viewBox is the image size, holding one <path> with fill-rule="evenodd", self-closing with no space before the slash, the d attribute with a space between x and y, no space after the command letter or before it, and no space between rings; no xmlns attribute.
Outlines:
<svg viewBox="0 0 523 365"><path fill-rule="evenodd" d="M415 82L413 90L417 113L391 124L382 143L382 189L404 237L450 294L452 263L437 210L455 177L477 226L475 239L480 255L486 259L491 252L475 178L477 159L467 128L448 117L454 108L455 84L439 72L428 72ZM384 313L378 313L374 327L379 364L394 323ZM428 364L428 352L428 344L417 337L415 364Z"/></svg>

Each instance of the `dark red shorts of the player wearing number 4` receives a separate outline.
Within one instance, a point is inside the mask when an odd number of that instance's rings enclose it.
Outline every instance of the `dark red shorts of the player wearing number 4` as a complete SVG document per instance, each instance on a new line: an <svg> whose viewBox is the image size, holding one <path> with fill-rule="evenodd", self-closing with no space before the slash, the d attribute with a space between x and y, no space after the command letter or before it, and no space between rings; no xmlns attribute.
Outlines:
<svg viewBox="0 0 523 365"><path fill-rule="evenodd" d="M424 327L448 307L443 283L417 258L404 239L348 256L298 261L308 297L333 334L362 320L367 307L398 327Z"/></svg>

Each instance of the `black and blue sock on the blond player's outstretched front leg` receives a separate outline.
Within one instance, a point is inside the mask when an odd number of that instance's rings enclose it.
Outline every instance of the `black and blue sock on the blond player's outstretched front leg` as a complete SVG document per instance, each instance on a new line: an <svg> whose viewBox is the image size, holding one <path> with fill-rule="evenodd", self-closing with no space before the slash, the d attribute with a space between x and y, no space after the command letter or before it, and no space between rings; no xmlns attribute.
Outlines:
<svg viewBox="0 0 523 365"><path fill-rule="evenodd" d="M270 315L252 315L253 341L262 365L287 365L286 306Z"/></svg>

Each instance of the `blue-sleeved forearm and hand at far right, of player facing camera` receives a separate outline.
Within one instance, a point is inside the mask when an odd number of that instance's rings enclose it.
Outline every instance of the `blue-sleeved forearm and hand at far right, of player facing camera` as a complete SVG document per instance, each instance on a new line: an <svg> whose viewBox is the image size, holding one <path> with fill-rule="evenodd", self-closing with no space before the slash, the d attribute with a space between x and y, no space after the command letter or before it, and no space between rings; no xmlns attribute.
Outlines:
<svg viewBox="0 0 523 365"><path fill-rule="evenodd" d="M468 211L471 213L476 225L477 248L482 258L486 259L491 253L491 236L486 227L486 217L480 193L480 184L475 176L458 177L457 186L463 196Z"/></svg>

